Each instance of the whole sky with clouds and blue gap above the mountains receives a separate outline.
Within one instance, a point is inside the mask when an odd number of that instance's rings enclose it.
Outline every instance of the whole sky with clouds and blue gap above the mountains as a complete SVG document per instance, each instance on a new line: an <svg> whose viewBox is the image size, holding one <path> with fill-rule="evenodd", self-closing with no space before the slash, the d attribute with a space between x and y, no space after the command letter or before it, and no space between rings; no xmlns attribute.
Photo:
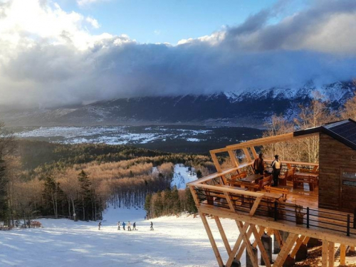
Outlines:
<svg viewBox="0 0 356 267"><path fill-rule="evenodd" d="M0 0L0 108L355 73L355 0Z"/></svg>

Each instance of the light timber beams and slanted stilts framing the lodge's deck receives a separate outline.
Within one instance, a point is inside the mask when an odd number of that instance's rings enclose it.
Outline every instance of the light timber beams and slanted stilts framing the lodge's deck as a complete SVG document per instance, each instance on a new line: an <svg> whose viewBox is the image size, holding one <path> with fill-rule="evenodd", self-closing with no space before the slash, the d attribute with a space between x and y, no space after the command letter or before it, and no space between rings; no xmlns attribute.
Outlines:
<svg viewBox="0 0 356 267"><path fill-rule="evenodd" d="M243 169L244 167L251 166L253 164L253 160L258 157L255 149L256 146L268 145L268 144L285 142L290 140L297 140L300 138L311 137L315 135L319 135L319 133L311 133L308 135L301 135L295 137L292 132L285 135L264 137L256 140L250 140L247 142L241 142L240 144L237 145L229 145L218 150L210 151L211 159L214 162L217 172L214 174L210 174L206 177L203 177L201 179L198 179L194 182L190 182L187 185L189 186L189 189L192 192L192 196L194 198L195 204L201 216L201 220L204 224L206 234L209 237L211 247L213 248L214 254L216 256L216 261L218 262L219 266L230 267L234 259L238 261L241 259L241 256L243 255L244 250L246 248L246 251L250 256L251 263L253 264L253 266L257 267L258 263L256 262L256 259L253 256L252 248L258 247L259 250L261 251L261 256L266 266L281 267L283 266L284 261L286 261L288 255L292 257L295 256L300 246L302 244L307 244L310 238L323 240L323 253L322 253L323 267L334 266L335 243L341 244L340 263L345 264L345 247L346 247L345 245L349 245L352 247L356 246L355 238L350 236L342 236L340 234L335 233L335 231L333 232L333 231L320 230L320 229L307 229L303 226L298 226L293 223L288 223L286 221L274 221L271 218L261 218L261 216L256 216L255 212L256 209L258 208L258 205L261 202L261 199L263 197L263 192L258 193L258 192L241 191L233 188L227 188L221 186L217 187L216 185L209 184L214 179L219 179L219 184L221 185L226 184L226 178L225 178L226 174L230 174L232 172L241 172L241 169ZM244 155L247 159L246 163L239 164L234 154L235 150L242 150L244 152ZM250 152L248 152L248 150L251 151L253 157L251 157ZM216 154L221 152L227 152L229 154L229 157L231 159L231 162L234 164L234 167L228 169L221 169L221 165L219 164L219 161L216 157ZM300 165L300 164L311 165L311 166L318 165L318 164L306 163L306 162L287 162L287 161L282 161L282 162L286 162L287 164L295 164L295 165ZM214 206L214 205L212 206L207 203L201 203L201 201L199 201L199 197L196 189L208 190L208 191L214 190L215 192L220 192L221 195L224 195L224 198L226 199L226 203L229 205L229 209L221 209L219 206ZM239 194L241 195L241 197L253 197L255 199L253 201L253 204L248 214L243 214L240 213L239 211L236 211L234 205L232 204L230 194ZM207 215L214 216L214 221L216 222L216 226L219 229L221 239L224 243L224 247L226 248L226 253L229 255L229 258L226 261L226 263L224 263L223 259L221 258L220 251L216 246L216 241L214 239L213 234L211 233L208 220L206 219ZM224 232L224 228L221 225L220 218L229 218L229 219L234 219L234 221L236 221L236 226L237 229L239 229L240 234L233 248L231 248L231 246L229 245L229 241ZM278 256L274 263L271 263L271 261L269 261L266 250L261 242L261 236L266 228L273 229L276 238L279 241L281 241L280 242L281 251L278 253ZM283 243L283 241L281 240L281 236L279 236L279 231L287 231L289 233L286 242ZM255 238L253 244L251 244L249 241L251 236Z"/></svg>

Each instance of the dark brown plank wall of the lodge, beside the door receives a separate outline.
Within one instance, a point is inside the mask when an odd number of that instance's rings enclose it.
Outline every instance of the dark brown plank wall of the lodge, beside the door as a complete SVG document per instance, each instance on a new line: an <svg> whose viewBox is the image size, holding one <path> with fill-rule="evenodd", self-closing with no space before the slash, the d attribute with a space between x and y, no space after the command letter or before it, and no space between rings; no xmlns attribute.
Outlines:
<svg viewBox="0 0 356 267"><path fill-rule="evenodd" d="M320 133L319 164L319 208L339 210L340 171L356 169L356 150Z"/></svg>

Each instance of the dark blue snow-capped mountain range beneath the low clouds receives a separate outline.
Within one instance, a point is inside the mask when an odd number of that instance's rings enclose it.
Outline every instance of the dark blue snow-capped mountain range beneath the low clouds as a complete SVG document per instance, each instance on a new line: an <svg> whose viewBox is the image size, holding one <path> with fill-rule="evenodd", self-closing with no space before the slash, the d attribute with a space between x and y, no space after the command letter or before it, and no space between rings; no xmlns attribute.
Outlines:
<svg viewBox="0 0 356 267"><path fill-rule="evenodd" d="M0 112L6 125L192 124L258 127L273 114L293 117L313 98L339 108L355 94L352 82L301 88L248 89L211 95L178 95L101 100L71 108Z"/></svg>

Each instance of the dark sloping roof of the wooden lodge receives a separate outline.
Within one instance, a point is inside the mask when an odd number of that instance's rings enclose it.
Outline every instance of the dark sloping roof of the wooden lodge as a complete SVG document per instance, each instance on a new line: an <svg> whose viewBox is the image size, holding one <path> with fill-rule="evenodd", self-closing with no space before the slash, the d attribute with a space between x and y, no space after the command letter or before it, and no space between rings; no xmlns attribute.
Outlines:
<svg viewBox="0 0 356 267"><path fill-rule="evenodd" d="M293 132L293 136L310 135L315 132L324 132L334 139L342 142L356 150L356 121L355 120L340 120L338 122L331 122L320 127L309 128Z"/></svg>

